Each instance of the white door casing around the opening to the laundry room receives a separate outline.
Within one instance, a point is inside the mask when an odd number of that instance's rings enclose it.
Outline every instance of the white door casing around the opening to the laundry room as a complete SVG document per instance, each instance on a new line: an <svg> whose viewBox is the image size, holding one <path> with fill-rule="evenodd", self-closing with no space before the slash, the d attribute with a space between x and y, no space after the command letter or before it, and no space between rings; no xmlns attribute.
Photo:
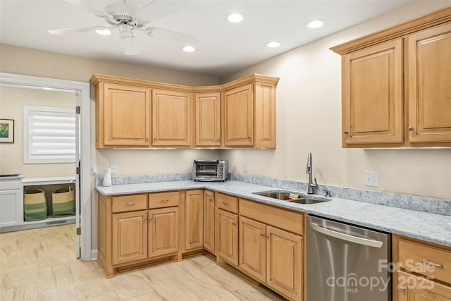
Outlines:
<svg viewBox="0 0 451 301"><path fill-rule="evenodd" d="M75 94L76 140L75 176L76 228L80 228L76 235L77 257L82 261L90 261L91 255L91 178L90 178L90 85L87 82L58 80L53 78L39 78L28 75L0 73L1 85L23 88L40 88L44 90L69 91ZM17 135L20 135L18 133ZM74 171L75 173L75 171ZM75 233L74 233L75 235Z"/></svg>

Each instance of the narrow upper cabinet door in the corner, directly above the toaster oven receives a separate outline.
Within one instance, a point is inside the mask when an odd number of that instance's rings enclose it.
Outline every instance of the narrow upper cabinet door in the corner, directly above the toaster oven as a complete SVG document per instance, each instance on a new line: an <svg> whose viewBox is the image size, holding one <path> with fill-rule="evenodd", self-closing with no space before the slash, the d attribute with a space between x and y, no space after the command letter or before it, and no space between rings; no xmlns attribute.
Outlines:
<svg viewBox="0 0 451 301"><path fill-rule="evenodd" d="M221 146L221 93L196 94L196 146Z"/></svg>

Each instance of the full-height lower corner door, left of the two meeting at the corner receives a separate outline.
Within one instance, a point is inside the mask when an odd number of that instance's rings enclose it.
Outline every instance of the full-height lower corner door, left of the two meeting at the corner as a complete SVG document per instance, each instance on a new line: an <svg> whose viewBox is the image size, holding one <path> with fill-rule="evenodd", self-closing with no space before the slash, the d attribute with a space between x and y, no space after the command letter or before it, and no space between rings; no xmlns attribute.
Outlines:
<svg viewBox="0 0 451 301"><path fill-rule="evenodd" d="M185 192L185 250L204 247L204 192Z"/></svg>

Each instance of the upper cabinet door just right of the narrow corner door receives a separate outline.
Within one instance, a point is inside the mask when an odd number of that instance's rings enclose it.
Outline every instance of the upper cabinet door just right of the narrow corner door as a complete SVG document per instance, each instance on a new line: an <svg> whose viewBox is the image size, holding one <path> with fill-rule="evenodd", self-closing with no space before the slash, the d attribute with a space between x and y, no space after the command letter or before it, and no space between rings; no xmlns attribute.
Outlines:
<svg viewBox="0 0 451 301"><path fill-rule="evenodd" d="M254 95L252 85L226 91L224 96L226 146L254 145Z"/></svg>

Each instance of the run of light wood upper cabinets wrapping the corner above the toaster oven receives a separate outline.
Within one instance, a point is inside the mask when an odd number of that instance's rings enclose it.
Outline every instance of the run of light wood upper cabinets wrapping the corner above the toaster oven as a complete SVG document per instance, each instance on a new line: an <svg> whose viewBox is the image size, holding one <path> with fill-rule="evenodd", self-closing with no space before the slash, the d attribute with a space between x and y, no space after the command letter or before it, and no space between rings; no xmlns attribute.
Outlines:
<svg viewBox="0 0 451 301"><path fill-rule="evenodd" d="M276 148L278 80L188 87L94 74L96 147Z"/></svg>

